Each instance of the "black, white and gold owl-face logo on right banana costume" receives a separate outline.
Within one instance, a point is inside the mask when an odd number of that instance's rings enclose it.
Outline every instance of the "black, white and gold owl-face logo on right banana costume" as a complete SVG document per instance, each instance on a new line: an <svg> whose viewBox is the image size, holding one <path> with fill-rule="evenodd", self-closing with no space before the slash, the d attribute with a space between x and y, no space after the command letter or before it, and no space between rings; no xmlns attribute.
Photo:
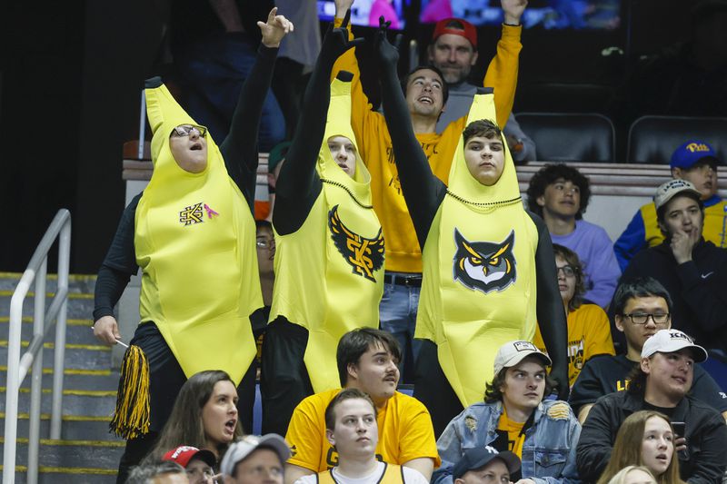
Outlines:
<svg viewBox="0 0 727 484"><path fill-rule="evenodd" d="M499 243L469 242L455 228L454 243L457 246L453 261L454 281L485 294L503 291L515 282L514 231Z"/></svg>

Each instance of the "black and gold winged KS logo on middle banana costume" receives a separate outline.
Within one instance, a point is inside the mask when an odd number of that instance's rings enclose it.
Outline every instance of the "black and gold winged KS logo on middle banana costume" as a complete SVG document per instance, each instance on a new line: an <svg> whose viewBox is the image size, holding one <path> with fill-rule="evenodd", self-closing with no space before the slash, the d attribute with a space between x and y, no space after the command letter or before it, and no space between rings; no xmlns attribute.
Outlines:
<svg viewBox="0 0 727 484"><path fill-rule="evenodd" d="M354 274L376 282L373 272L383 267L383 233L381 228L373 239L366 239L344 225L338 214L338 205L328 212L328 228L335 248L352 267Z"/></svg>

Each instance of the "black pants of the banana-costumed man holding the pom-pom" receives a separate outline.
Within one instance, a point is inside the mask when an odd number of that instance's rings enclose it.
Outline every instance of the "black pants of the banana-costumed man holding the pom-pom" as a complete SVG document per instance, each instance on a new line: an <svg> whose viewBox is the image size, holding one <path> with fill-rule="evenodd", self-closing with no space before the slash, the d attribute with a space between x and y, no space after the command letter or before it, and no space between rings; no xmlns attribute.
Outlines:
<svg viewBox="0 0 727 484"><path fill-rule="evenodd" d="M164 424L172 413L174 400L187 380L182 367L174 358L174 353L169 349L162 333L153 322L144 323L136 328L131 344L141 348L149 362L149 410L151 416L148 434L137 439L126 440L126 448L124 455L121 456L116 476L117 484L124 484L129 470L137 466L154 448L157 438L164 429ZM238 420L245 433L253 430L255 370L256 365L253 361L237 387ZM179 442L179 445L184 443L188 442Z"/></svg>

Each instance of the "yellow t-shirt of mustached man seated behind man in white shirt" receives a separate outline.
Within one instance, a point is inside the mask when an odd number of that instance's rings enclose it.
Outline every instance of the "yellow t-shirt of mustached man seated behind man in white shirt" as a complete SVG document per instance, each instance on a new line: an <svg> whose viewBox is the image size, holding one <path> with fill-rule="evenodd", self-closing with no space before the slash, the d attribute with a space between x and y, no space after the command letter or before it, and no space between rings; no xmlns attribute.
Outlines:
<svg viewBox="0 0 727 484"><path fill-rule="evenodd" d="M314 472L338 465L338 454L325 438L325 408L341 389L316 393L301 401L293 412L285 440L293 449L289 464ZM432 418L419 400L408 395L393 394L386 408L376 415L379 443L376 459L402 465L412 459L434 459L434 467L442 460L437 453Z"/></svg>

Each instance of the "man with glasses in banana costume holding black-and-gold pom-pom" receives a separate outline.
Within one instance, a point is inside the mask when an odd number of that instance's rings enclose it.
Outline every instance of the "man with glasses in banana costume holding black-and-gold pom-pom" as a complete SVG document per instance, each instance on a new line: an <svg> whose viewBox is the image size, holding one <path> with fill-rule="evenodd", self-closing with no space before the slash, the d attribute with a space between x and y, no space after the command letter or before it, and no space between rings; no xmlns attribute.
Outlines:
<svg viewBox="0 0 727 484"><path fill-rule="evenodd" d="M112 420L127 440L119 482L152 448L184 380L198 371L225 370L240 384L241 418L252 427L249 315L263 305L253 243L255 137L277 46L293 28L274 10L258 25L258 57L240 92L233 129L219 147L159 78L146 84L154 173L124 210L95 286L94 334L115 344L115 303L143 270L141 321L124 358ZM143 411L147 396L150 414ZM184 443L190 442L176 445Z"/></svg>

